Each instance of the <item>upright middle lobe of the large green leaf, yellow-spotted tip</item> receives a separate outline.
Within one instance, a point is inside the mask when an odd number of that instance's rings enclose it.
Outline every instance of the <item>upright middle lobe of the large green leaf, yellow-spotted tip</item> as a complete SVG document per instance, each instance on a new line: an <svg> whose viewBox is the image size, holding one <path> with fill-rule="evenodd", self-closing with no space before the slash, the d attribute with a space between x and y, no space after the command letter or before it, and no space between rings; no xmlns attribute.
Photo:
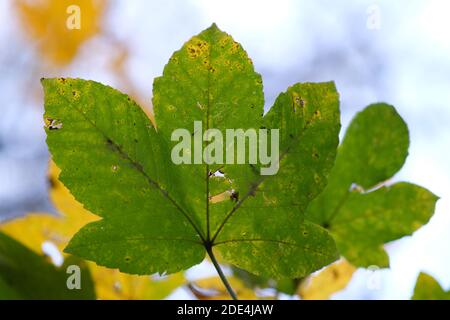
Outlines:
<svg viewBox="0 0 450 320"><path fill-rule="evenodd" d="M172 132L179 128L193 132L194 121L201 121L203 131L215 128L224 135L226 129L259 128L264 112L262 79L241 45L213 25L172 55L163 75L154 80L153 106L158 131L170 148L177 143L171 141ZM226 179L210 179L210 173L221 167L177 166L183 177L180 189L188 191L186 203L205 238L232 205L222 203L218 210L208 205L208 194L232 188Z"/></svg>

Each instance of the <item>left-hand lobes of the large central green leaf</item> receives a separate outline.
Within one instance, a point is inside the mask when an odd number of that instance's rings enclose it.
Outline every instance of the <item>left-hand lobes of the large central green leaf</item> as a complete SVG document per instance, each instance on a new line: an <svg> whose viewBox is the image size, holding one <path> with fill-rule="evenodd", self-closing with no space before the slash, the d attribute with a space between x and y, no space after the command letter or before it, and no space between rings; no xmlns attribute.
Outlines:
<svg viewBox="0 0 450 320"><path fill-rule="evenodd" d="M93 81L43 85L45 118L61 124L46 128L59 179L103 218L82 228L65 251L132 274L200 263L204 250L194 217L181 207L168 147L142 109Z"/></svg>

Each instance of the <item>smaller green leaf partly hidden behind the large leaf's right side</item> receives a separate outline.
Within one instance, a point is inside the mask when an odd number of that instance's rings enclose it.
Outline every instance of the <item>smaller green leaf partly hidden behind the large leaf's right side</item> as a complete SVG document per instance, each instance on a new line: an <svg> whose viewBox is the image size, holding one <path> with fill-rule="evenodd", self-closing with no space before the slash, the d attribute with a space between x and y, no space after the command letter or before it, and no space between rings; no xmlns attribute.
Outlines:
<svg viewBox="0 0 450 320"><path fill-rule="evenodd" d="M427 223L437 197L410 183L386 186L408 154L408 128L394 107L358 113L338 149L328 186L307 217L329 229L341 254L356 266L389 265L383 244Z"/></svg>

